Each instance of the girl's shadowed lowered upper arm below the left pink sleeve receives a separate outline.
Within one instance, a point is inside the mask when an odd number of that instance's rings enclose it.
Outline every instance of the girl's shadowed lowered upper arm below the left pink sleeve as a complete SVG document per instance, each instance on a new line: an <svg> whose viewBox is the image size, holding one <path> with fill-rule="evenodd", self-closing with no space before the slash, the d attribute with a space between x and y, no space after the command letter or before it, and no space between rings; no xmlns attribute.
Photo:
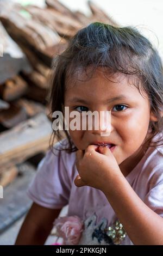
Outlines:
<svg viewBox="0 0 163 256"><path fill-rule="evenodd" d="M15 245L43 245L61 209L49 209L33 203L24 220Z"/></svg>

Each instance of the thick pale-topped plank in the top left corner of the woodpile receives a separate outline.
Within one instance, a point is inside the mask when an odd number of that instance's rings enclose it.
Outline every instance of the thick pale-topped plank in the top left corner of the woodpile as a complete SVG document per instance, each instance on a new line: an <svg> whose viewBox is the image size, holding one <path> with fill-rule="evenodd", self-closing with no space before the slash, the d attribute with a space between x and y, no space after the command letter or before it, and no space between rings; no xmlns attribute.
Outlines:
<svg viewBox="0 0 163 256"><path fill-rule="evenodd" d="M60 36L56 31L43 23L33 21L30 17L25 19L21 15L21 10L17 9L14 3L11 5L12 9L8 8L8 5L0 3L0 20L17 44L22 40L38 50L45 50L46 47L58 44Z"/></svg>

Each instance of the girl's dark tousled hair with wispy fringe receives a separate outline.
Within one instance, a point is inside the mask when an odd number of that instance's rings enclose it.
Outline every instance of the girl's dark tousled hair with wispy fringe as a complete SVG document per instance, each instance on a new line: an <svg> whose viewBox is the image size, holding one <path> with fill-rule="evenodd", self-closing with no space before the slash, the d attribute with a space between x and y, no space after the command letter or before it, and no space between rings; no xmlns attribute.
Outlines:
<svg viewBox="0 0 163 256"><path fill-rule="evenodd" d="M91 23L80 29L69 42L64 52L54 58L53 80L49 95L51 114L61 111L64 114L65 82L68 76L75 75L79 68L86 72L88 66L92 72L101 66L107 68L111 74L119 72L134 79L134 85L140 86L149 97L151 110L158 121L150 121L151 133L148 142L163 129L161 111L163 111L163 76L161 58L151 42L133 27L114 27L104 23ZM138 79L135 79L138 78ZM68 152L76 151L73 142L64 131L68 139ZM53 148L54 138L60 140L60 131L53 131L50 140ZM147 142L146 141L146 142ZM51 143L52 142L52 143ZM150 144L150 147L160 143L163 138Z"/></svg>

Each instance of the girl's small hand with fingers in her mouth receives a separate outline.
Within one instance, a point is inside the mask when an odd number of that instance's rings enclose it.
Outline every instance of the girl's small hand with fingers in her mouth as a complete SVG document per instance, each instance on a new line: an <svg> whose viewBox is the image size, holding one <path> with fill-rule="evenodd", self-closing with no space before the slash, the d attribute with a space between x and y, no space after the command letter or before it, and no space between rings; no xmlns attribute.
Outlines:
<svg viewBox="0 0 163 256"><path fill-rule="evenodd" d="M96 151L98 149L99 153ZM100 154L101 153L101 154ZM120 167L109 148L89 145L76 153L79 175L74 180L77 187L91 186L104 191L112 185L116 175L122 175Z"/></svg>

